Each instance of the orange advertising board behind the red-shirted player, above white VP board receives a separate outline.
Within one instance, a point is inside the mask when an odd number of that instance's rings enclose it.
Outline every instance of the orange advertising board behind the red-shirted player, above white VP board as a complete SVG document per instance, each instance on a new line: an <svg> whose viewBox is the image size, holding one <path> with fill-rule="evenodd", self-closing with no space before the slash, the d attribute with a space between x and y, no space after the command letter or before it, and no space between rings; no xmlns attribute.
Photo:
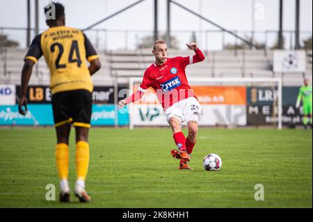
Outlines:
<svg viewBox="0 0 313 222"><path fill-rule="evenodd" d="M200 104L246 105L246 86L192 86ZM134 90L138 85L134 86ZM159 104L157 95L149 88L135 104Z"/></svg>

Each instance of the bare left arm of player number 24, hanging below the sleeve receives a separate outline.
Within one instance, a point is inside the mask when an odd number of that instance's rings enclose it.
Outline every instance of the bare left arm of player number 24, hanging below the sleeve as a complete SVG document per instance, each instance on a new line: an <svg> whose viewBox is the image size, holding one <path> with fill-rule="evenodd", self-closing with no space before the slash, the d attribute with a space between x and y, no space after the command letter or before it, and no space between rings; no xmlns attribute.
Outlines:
<svg viewBox="0 0 313 222"><path fill-rule="evenodd" d="M26 114L22 109L22 106L25 107L27 111L27 98L26 92L27 87L29 86L29 79L31 79L31 72L33 72L33 65L35 63L29 59L26 59L22 69L22 79L21 79L21 93L19 95L19 114L23 116Z"/></svg>

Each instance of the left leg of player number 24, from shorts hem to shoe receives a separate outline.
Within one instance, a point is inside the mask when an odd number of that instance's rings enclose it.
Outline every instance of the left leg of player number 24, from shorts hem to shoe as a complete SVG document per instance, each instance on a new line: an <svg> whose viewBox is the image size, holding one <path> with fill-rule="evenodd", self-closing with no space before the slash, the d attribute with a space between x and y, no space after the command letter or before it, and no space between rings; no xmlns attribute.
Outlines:
<svg viewBox="0 0 313 222"><path fill-rule="evenodd" d="M60 202L70 202L70 185L68 183L70 124L56 126L56 168L60 179Z"/></svg>

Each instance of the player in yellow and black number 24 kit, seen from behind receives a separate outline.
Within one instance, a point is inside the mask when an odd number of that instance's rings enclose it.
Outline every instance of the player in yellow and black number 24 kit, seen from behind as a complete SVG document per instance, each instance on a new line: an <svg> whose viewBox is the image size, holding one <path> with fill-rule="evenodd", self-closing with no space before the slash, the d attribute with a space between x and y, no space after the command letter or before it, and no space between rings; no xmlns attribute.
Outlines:
<svg viewBox="0 0 313 222"><path fill-rule="evenodd" d="M90 128L93 83L91 75L101 68L99 56L86 35L65 26L64 6L55 6L54 19L46 20L49 29L37 35L24 58L19 113L27 110L26 90L33 65L43 55L50 70L52 109L56 129L56 166L60 179L60 201L70 202L69 136L71 124L76 131L77 182L74 193L80 202L89 202L85 179L89 164L88 132ZM45 7L45 14L49 8ZM87 66L86 60L90 65Z"/></svg>

